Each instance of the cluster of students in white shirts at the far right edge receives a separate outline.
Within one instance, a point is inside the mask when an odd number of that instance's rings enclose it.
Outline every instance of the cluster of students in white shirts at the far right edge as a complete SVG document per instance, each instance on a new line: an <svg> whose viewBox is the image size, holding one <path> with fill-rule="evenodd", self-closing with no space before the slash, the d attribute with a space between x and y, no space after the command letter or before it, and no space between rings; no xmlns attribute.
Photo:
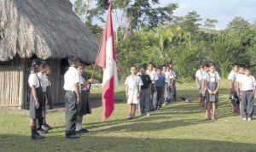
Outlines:
<svg viewBox="0 0 256 152"><path fill-rule="evenodd" d="M251 76L250 67L241 64L232 65L228 80L233 112L241 115L244 121L252 121L256 82L254 76Z"/></svg>

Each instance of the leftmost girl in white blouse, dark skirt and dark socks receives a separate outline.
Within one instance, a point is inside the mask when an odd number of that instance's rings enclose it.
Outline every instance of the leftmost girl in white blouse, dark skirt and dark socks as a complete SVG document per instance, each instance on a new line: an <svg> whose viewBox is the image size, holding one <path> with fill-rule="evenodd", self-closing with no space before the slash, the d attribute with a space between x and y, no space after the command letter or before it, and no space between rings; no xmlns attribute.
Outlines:
<svg viewBox="0 0 256 152"><path fill-rule="evenodd" d="M30 111L30 126L31 126L31 138L32 139L43 139L44 136L41 136L40 133L37 132L36 128L36 121L41 121L42 118L42 105L43 105L43 93L42 87L40 84L40 79L38 77L38 71L40 61L37 59L32 60L32 71L28 77L28 84L31 88L30 93L30 104L29 104L29 111ZM39 127L40 128L40 127Z"/></svg>

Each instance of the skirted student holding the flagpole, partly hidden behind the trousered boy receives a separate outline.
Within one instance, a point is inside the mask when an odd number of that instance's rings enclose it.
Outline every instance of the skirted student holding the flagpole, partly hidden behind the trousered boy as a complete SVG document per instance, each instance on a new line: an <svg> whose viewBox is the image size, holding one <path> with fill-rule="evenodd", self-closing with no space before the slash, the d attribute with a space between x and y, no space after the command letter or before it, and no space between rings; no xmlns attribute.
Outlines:
<svg viewBox="0 0 256 152"><path fill-rule="evenodd" d="M83 115L91 114L90 103L89 103L89 85L92 83L92 79L87 82L84 80L84 65L79 64L79 90L81 93L81 103L78 105L78 117L76 122L76 132L86 133L89 132L87 129L82 127Z"/></svg>

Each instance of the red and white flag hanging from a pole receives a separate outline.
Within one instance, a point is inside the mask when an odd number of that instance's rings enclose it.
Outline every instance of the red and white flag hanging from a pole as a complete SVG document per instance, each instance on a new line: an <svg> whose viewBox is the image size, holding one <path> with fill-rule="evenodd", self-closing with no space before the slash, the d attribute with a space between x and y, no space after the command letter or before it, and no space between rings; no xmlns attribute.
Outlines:
<svg viewBox="0 0 256 152"><path fill-rule="evenodd" d="M101 48L96 58L96 65L103 69L102 80L102 121L106 121L113 112L114 88L118 86L113 42L113 24L111 3L108 8L108 17L102 36Z"/></svg>

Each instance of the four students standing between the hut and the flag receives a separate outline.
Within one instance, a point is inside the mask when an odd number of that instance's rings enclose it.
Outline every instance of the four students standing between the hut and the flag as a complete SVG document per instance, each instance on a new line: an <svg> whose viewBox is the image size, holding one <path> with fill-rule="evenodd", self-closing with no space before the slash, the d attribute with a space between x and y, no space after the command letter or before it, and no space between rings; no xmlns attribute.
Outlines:
<svg viewBox="0 0 256 152"><path fill-rule="evenodd" d="M83 115L90 114L89 85L92 79L83 78L84 65L73 55L68 58L70 65L64 75L65 104L66 104L66 138L79 138L81 133L88 132L82 127ZM43 139L42 133L51 127L46 123L45 105L52 109L52 99L49 82L49 66L37 59L32 61L32 72L28 78L30 93L30 125L32 139Z"/></svg>

